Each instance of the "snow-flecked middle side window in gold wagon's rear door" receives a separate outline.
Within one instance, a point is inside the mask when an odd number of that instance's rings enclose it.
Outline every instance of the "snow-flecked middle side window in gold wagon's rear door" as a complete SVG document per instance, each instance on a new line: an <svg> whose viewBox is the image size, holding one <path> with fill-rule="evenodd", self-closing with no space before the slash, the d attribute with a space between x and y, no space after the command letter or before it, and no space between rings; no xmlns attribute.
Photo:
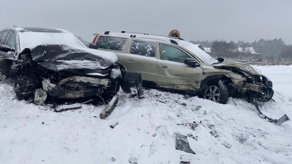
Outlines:
<svg viewBox="0 0 292 164"><path fill-rule="evenodd" d="M130 53L147 57L155 57L156 43L147 41L132 41Z"/></svg>

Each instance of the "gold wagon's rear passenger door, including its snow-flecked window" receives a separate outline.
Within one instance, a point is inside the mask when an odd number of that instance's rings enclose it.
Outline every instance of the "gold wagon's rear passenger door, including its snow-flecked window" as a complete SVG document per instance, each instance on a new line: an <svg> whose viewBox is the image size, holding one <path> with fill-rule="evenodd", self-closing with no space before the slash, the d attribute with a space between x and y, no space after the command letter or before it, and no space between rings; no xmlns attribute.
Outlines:
<svg viewBox="0 0 292 164"><path fill-rule="evenodd" d="M156 44L151 41L132 40L124 57L124 66L130 72L142 74L143 85L157 85Z"/></svg>

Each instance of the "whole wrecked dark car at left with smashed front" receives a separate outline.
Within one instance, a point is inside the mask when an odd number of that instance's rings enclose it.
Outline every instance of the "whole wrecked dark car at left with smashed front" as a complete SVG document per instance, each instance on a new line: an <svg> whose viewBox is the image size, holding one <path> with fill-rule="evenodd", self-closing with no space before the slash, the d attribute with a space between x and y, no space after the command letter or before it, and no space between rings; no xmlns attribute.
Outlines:
<svg viewBox="0 0 292 164"><path fill-rule="evenodd" d="M38 105L76 99L98 104L120 86L142 95L141 74L120 69L114 53L89 47L62 29L6 28L0 33L0 79L14 86L18 100Z"/></svg>

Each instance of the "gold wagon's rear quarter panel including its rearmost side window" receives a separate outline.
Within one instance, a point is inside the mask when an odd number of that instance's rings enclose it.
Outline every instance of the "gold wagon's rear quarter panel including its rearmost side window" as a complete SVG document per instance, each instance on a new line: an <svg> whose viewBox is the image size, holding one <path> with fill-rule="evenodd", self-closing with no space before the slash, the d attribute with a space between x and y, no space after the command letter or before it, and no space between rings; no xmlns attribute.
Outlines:
<svg viewBox="0 0 292 164"><path fill-rule="evenodd" d="M96 45L98 48L116 53L118 62L124 65L124 56L127 50L128 42L129 39L127 38L99 36Z"/></svg>

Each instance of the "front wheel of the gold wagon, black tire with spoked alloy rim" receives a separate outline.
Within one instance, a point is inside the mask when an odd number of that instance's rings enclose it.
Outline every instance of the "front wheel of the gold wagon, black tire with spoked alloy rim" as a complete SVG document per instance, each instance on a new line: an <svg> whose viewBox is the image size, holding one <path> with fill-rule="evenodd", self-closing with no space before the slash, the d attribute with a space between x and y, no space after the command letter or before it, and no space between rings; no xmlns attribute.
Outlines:
<svg viewBox="0 0 292 164"><path fill-rule="evenodd" d="M201 97L220 104L226 104L228 100L228 89L222 80L208 84L201 93Z"/></svg>

